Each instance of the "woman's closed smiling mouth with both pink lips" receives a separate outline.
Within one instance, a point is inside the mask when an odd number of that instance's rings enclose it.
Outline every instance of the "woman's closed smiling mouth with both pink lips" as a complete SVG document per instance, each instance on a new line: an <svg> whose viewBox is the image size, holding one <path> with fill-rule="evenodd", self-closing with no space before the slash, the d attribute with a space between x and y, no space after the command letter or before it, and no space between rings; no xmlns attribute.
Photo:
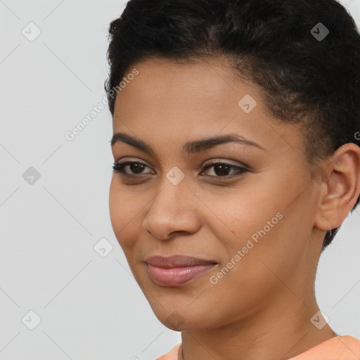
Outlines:
<svg viewBox="0 0 360 360"><path fill-rule="evenodd" d="M167 287L190 283L218 265L214 260L184 255L148 257L145 263L150 278L158 285Z"/></svg>

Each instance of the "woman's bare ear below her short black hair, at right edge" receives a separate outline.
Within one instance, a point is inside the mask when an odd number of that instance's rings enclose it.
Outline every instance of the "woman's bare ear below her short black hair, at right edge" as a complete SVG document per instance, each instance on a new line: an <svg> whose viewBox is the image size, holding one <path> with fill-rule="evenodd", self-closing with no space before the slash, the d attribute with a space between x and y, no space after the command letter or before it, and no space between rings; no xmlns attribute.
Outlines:
<svg viewBox="0 0 360 360"><path fill-rule="evenodd" d="M319 171L318 171L319 173ZM346 143L328 158L322 176L319 211L314 226L331 230L340 226L360 194L360 148Z"/></svg>

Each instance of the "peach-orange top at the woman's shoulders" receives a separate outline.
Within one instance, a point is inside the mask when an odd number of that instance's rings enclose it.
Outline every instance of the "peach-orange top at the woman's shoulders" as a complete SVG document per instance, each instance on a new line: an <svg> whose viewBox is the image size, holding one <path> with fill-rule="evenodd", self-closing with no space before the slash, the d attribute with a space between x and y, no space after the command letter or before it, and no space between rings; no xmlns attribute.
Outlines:
<svg viewBox="0 0 360 360"><path fill-rule="evenodd" d="M156 360L178 360L181 344ZM359 360L360 340L350 335L338 335L288 360Z"/></svg>

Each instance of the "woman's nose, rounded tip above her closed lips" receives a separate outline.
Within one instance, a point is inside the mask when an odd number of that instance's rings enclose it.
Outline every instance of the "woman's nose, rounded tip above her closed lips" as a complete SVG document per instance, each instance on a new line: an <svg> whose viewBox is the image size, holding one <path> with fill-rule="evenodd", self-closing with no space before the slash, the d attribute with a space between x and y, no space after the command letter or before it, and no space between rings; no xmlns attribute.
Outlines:
<svg viewBox="0 0 360 360"><path fill-rule="evenodd" d="M159 240L169 240L174 233L196 233L201 226L200 203L186 179L177 185L165 179L149 205L143 229Z"/></svg>

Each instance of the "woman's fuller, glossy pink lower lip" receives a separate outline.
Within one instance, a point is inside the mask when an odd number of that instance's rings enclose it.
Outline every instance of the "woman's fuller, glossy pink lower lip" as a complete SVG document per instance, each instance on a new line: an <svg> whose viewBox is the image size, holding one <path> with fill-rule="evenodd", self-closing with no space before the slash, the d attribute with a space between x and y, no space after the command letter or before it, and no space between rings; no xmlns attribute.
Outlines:
<svg viewBox="0 0 360 360"><path fill-rule="evenodd" d="M172 267L165 269L146 264L148 274L155 283L162 286L178 286L189 283L210 271L217 264Z"/></svg>

